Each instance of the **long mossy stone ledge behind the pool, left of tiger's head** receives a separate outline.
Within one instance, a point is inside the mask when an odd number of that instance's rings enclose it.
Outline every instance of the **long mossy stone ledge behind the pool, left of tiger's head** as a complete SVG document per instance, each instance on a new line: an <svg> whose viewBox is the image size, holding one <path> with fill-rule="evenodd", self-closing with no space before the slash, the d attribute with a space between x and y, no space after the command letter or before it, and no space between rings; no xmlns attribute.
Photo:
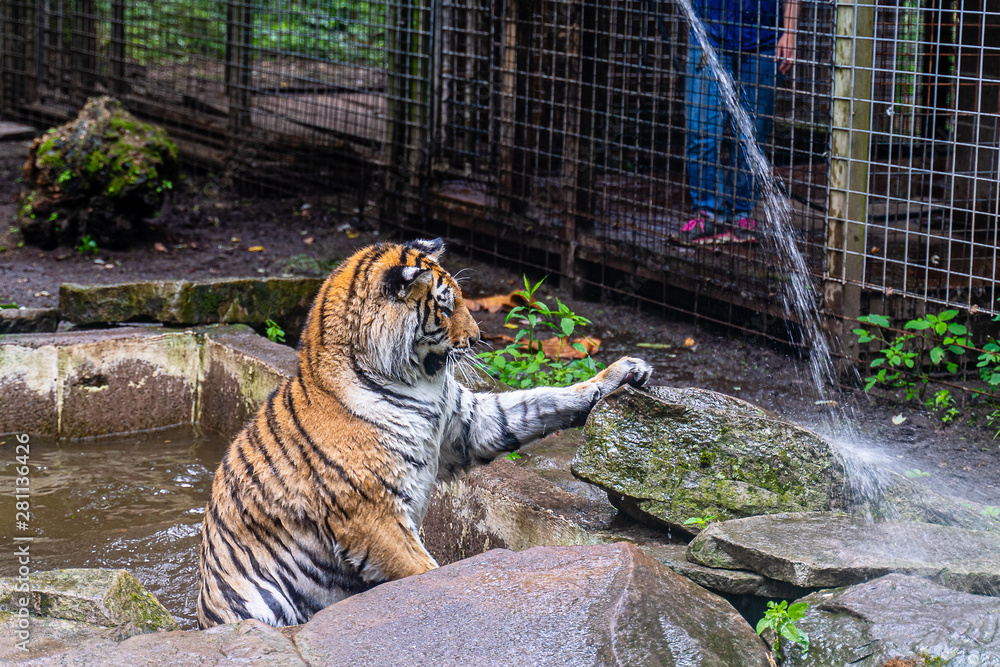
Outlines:
<svg viewBox="0 0 1000 667"><path fill-rule="evenodd" d="M274 320L286 332L297 334L322 284L318 278L64 283L59 288L59 309L63 319L75 324L263 324Z"/></svg>

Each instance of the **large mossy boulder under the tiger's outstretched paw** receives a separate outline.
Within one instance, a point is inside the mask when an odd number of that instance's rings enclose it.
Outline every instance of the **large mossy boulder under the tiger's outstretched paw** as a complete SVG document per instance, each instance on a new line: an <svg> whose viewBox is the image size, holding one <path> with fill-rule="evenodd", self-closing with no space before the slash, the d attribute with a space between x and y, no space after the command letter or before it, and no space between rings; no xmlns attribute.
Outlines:
<svg viewBox="0 0 1000 667"><path fill-rule="evenodd" d="M845 506L843 469L815 433L703 389L631 387L597 405L573 473L638 521L694 532L720 519Z"/></svg>

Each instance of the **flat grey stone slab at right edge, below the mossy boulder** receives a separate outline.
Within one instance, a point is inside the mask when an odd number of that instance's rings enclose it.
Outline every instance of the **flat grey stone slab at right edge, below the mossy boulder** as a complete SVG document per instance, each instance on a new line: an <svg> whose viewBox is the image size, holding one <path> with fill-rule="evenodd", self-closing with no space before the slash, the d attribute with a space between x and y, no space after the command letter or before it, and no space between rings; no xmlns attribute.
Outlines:
<svg viewBox="0 0 1000 667"><path fill-rule="evenodd" d="M913 521L866 522L809 512L711 524L688 560L745 569L805 588L846 586L889 573L926 577L959 591L1000 591L1000 534Z"/></svg>

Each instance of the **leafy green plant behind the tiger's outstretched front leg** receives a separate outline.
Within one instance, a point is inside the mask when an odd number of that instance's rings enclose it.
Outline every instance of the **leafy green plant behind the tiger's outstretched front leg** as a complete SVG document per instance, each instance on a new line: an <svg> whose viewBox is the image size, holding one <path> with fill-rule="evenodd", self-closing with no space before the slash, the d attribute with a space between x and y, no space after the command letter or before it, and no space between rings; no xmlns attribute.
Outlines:
<svg viewBox="0 0 1000 667"><path fill-rule="evenodd" d="M507 323L521 318L528 328L519 329L514 341L505 348L477 355L485 363L490 375L511 387L564 387L587 380L604 368L604 364L595 362L587 354L586 348L570 340L577 327L590 324L590 320L577 315L558 299L556 309L552 310L535 298L535 293L544 280L543 278L532 285L525 276L524 289L516 294L527 305L513 308L504 320ZM542 350L541 341L537 338L539 330L548 330L557 339L556 359L549 359ZM582 359L561 359L560 355L567 346L585 356Z"/></svg>

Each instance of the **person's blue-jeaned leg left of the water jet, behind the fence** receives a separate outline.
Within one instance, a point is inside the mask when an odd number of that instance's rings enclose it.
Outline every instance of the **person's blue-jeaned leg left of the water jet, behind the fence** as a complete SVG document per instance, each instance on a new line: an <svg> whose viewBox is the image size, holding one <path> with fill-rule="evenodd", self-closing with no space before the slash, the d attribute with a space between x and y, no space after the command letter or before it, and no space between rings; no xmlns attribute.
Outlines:
<svg viewBox="0 0 1000 667"><path fill-rule="evenodd" d="M688 44L684 116L687 130L685 158L691 200L696 211L704 211L714 217L722 203L719 144L722 142L726 114L722 109L715 75L694 37Z"/></svg>

